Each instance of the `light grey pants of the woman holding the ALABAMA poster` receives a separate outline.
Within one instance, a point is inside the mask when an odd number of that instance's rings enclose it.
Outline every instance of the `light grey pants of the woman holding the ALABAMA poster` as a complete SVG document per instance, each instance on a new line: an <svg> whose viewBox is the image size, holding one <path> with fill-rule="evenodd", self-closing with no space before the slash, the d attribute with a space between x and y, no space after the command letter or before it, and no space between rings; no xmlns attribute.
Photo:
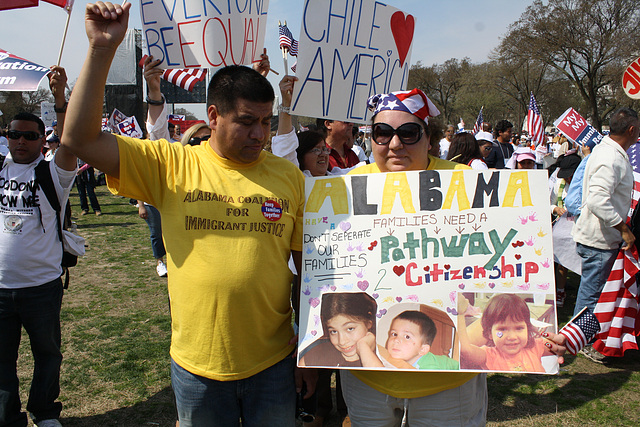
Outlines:
<svg viewBox="0 0 640 427"><path fill-rule="evenodd" d="M399 427L405 412L411 427L480 427L487 422L487 374L478 374L456 388L411 399L384 394L347 370L340 372L340 378L353 427Z"/></svg>

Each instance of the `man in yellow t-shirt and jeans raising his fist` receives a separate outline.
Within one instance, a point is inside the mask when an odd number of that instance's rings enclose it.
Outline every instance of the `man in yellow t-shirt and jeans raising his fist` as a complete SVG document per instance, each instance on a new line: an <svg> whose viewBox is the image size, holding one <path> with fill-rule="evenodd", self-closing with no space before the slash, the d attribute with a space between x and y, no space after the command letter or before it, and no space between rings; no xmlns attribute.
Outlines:
<svg viewBox="0 0 640 427"><path fill-rule="evenodd" d="M89 52L63 146L103 170L111 191L162 214L180 426L242 419L293 427L287 261L290 254L300 260L304 178L263 151L273 88L250 68L219 70L207 100L211 139L199 146L100 133L106 75L130 7L86 7ZM309 394L313 388L308 384Z"/></svg>

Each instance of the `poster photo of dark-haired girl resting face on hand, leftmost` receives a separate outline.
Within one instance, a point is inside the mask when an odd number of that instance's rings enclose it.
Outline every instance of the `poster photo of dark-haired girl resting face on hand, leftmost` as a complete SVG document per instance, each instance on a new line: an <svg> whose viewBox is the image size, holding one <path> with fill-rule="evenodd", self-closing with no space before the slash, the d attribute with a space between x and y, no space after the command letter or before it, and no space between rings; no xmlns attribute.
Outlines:
<svg viewBox="0 0 640 427"><path fill-rule="evenodd" d="M300 366L361 367L376 358L376 301L364 292L322 295L323 335L307 347ZM374 361L375 363L375 361Z"/></svg>

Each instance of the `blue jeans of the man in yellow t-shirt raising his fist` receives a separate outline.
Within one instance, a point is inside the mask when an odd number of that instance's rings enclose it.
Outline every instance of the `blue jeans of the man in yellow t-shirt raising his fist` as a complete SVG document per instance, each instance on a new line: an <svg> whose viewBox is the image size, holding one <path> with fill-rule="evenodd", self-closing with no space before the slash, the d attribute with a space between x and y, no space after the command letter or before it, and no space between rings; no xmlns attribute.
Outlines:
<svg viewBox="0 0 640 427"><path fill-rule="evenodd" d="M171 360L171 385L180 427L295 426L295 360L287 356L262 372L235 381L204 378Z"/></svg>

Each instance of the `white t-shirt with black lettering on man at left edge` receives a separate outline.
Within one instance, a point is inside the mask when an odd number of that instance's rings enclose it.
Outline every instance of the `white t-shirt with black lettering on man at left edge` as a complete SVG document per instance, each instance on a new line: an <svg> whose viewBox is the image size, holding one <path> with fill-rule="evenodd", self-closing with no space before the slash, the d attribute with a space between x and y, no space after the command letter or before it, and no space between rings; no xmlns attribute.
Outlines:
<svg viewBox="0 0 640 427"><path fill-rule="evenodd" d="M40 155L32 163L17 164L9 154L0 171L0 288L40 286L62 274L56 213L41 188L36 191L37 203L32 200L34 169L42 159ZM49 166L64 207L76 171L65 171L55 162Z"/></svg>

